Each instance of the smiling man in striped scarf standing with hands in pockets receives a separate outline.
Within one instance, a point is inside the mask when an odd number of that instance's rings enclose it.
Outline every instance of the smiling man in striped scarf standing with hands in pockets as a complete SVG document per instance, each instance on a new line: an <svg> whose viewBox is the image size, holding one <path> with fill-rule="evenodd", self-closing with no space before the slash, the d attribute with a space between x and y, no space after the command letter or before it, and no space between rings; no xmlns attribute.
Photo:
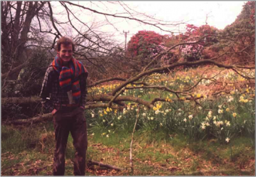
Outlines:
<svg viewBox="0 0 256 177"><path fill-rule="evenodd" d="M58 40L57 56L46 70L40 93L43 107L54 116L54 176L64 176L69 131L76 151L73 173L75 176L85 175L87 128L83 113L88 72L83 63L72 57L74 46L68 37Z"/></svg>

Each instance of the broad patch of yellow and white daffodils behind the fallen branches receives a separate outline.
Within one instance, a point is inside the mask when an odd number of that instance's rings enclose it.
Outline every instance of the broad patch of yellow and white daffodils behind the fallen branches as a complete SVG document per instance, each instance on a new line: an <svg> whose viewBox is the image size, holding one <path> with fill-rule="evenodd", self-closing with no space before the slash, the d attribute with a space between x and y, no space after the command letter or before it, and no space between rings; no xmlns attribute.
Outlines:
<svg viewBox="0 0 256 177"><path fill-rule="evenodd" d="M255 73L249 72L248 75L255 76ZM145 82L180 91L196 84L198 79L198 75L157 73L146 78ZM218 75L216 79L226 82L245 82L240 75L234 72ZM213 79L202 79L199 85L205 88L213 81ZM93 87L90 92L96 95L105 94L118 85ZM249 135L253 139L254 134L251 132L255 132L255 88L249 85L236 87L230 84L229 86L232 88L230 92L220 92L214 100L211 95L208 95L211 92L207 89L191 90L191 98L199 104L186 99L188 95L180 95L178 98L174 93L161 90L128 89L123 92L122 96L134 96L152 101L161 95L163 101L155 102L152 108L136 102L125 102L122 110L110 107L90 110L87 113L89 131L91 135L101 132L101 136L106 138L117 135L119 131L132 132L136 117L139 116L137 131L151 133L163 131L167 135L182 132L193 140L217 138L222 143L229 143L233 137L241 135ZM143 87L143 85L129 84L126 87Z"/></svg>

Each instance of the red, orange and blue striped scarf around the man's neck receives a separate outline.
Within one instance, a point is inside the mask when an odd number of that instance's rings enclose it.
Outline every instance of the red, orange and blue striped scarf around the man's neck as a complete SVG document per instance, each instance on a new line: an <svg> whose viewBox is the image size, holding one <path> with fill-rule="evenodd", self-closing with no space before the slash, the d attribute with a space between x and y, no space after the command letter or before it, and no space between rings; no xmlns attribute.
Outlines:
<svg viewBox="0 0 256 177"><path fill-rule="evenodd" d="M80 102L81 90L79 84L79 78L82 73L88 72L81 61L71 58L72 62L69 62L69 66L62 66L63 61L60 59L60 55L57 55L52 61L52 67L60 74L59 81L60 87L65 92L72 90L72 96L76 104Z"/></svg>

